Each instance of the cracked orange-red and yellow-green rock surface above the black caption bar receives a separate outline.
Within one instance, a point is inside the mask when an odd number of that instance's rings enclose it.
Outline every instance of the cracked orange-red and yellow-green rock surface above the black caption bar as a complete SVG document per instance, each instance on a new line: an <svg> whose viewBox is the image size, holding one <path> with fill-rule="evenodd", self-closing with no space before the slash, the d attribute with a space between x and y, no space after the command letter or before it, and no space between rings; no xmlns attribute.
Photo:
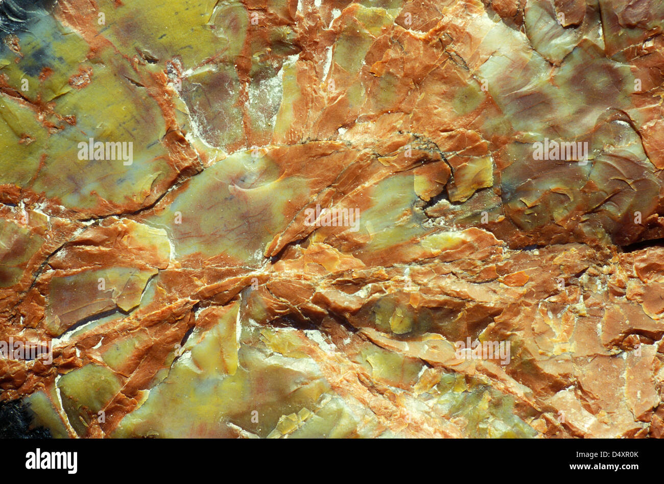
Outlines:
<svg viewBox="0 0 664 484"><path fill-rule="evenodd" d="M52 350L0 400L59 438L662 436L663 27L1 1L0 340Z"/></svg>

